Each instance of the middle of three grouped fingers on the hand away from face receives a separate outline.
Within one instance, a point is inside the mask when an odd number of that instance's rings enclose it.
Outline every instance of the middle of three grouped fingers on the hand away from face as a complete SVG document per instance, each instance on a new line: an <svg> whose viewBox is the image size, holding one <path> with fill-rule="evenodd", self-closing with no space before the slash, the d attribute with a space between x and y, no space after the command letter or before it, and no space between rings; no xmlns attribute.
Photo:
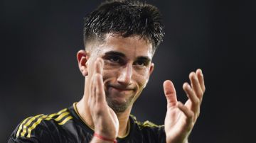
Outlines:
<svg viewBox="0 0 256 143"><path fill-rule="evenodd" d="M196 96L198 96L199 99L203 96L203 91L201 89L201 86L199 84L198 78L196 76L195 72L191 72L189 74L189 79L191 81L191 86L193 88L193 91L195 91Z"/></svg>

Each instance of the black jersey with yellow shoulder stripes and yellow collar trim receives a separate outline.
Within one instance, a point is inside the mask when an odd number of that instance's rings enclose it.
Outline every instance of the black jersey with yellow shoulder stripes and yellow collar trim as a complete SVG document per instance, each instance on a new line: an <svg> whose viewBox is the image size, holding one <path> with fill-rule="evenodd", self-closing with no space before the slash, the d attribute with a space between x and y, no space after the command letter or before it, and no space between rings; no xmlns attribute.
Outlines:
<svg viewBox="0 0 256 143"><path fill-rule="evenodd" d="M94 131L80 118L76 103L50 115L36 115L23 120L11 134L11 142L90 142ZM127 135L117 142L166 142L164 126L138 122L129 117Z"/></svg>

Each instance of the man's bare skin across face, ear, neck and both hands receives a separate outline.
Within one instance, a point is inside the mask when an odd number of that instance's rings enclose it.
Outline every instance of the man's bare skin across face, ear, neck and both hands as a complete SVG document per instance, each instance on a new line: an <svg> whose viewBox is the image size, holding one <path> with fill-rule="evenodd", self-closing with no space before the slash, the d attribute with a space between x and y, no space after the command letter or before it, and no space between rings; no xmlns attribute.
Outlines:
<svg viewBox="0 0 256 143"><path fill-rule="evenodd" d="M85 76L78 113L98 135L116 139L126 134L132 105L154 70L152 45L139 36L122 38L107 34L105 42L91 46L89 51L80 50L77 55ZM185 104L177 101L172 82L164 81L166 142L187 142L198 118L205 91L201 69L191 72L189 79L191 84L183 84L188 96ZM108 141L93 137L91 142Z"/></svg>

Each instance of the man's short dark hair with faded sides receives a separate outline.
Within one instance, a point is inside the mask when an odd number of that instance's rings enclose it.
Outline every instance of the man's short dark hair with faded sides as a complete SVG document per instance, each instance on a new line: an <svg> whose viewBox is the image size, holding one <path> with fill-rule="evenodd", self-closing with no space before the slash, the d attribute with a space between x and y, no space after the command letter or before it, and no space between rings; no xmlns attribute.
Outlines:
<svg viewBox="0 0 256 143"><path fill-rule="evenodd" d="M97 38L104 40L106 33L118 34L124 38L139 35L144 40L149 40L154 53L163 41L164 24L156 6L136 0L105 1L85 17L85 45Z"/></svg>

